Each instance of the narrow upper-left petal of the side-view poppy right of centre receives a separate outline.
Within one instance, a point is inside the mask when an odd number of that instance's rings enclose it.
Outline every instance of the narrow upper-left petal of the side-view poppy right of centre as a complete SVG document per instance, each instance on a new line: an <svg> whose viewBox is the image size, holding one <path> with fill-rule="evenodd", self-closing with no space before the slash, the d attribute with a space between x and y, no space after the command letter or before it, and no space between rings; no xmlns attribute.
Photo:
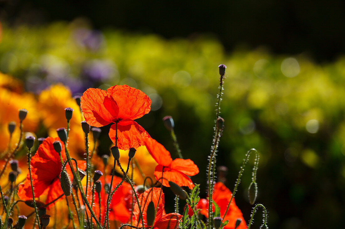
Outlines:
<svg viewBox="0 0 345 229"><path fill-rule="evenodd" d="M158 143L153 138L145 138L144 142L147 150L158 164L165 167L171 164L172 159L170 153L164 148L162 144Z"/></svg>

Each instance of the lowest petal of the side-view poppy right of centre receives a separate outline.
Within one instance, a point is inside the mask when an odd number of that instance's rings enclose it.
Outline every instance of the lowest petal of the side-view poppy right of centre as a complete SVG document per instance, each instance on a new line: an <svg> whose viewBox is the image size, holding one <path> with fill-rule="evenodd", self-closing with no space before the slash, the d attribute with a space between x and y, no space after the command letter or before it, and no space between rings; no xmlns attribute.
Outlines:
<svg viewBox="0 0 345 229"><path fill-rule="evenodd" d="M169 185L169 181L174 182L175 184L177 184L178 186L187 186L190 189L192 189L194 187L193 182L191 181L191 179L177 171L177 170L172 170L169 167L164 167L164 172L162 173L163 170L163 166L162 165L157 165L155 168L155 172L154 175L159 182L162 183L162 185L166 186L166 187L170 187ZM163 176L162 176L163 175ZM161 177L163 177L161 179Z"/></svg>

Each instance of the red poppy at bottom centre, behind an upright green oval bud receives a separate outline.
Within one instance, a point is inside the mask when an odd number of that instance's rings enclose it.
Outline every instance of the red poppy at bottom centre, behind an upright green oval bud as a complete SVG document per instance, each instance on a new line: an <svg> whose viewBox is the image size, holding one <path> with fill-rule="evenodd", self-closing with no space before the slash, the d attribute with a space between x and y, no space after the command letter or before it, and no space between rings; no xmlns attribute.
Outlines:
<svg viewBox="0 0 345 229"><path fill-rule="evenodd" d="M176 229L181 219L181 215L177 213L169 213L164 215L164 193L161 192L161 188L149 188L144 193L140 194L138 197L139 203L141 204L142 217L144 219L144 227L149 227L147 225L147 207L152 201L154 203L155 209L157 208L156 217L154 220L153 229ZM141 217L139 216L139 206L136 204L134 206L134 224L133 226L142 227Z"/></svg>

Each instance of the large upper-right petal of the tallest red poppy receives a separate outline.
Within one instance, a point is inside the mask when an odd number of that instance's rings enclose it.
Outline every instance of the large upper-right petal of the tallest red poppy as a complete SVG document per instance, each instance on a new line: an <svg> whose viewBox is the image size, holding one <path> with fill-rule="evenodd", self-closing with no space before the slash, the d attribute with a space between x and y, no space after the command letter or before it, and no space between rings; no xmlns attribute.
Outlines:
<svg viewBox="0 0 345 229"><path fill-rule="evenodd" d="M107 89L107 93L116 102L121 119L138 119L151 110L151 100L144 92L127 85L115 85Z"/></svg>

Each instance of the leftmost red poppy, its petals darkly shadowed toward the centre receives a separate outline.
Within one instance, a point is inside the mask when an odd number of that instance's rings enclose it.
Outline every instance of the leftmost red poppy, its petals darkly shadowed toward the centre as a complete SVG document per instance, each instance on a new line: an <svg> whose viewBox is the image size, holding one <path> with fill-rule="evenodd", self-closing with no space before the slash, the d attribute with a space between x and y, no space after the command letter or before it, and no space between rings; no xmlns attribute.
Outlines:
<svg viewBox="0 0 345 229"><path fill-rule="evenodd" d="M38 198L42 194L47 194L46 203L49 203L63 194L59 179L62 164L59 154L53 148L54 141L59 141L59 138L46 138L40 144L37 152L32 156L30 161L32 185L35 198ZM64 159L65 147L63 146L63 142L60 141L60 143L62 145L61 156L62 159ZM77 162L78 168L85 170L85 161ZM72 181L72 172L68 165L66 166L66 171ZM17 194L21 200L32 199L29 171L24 184L19 185Z"/></svg>

